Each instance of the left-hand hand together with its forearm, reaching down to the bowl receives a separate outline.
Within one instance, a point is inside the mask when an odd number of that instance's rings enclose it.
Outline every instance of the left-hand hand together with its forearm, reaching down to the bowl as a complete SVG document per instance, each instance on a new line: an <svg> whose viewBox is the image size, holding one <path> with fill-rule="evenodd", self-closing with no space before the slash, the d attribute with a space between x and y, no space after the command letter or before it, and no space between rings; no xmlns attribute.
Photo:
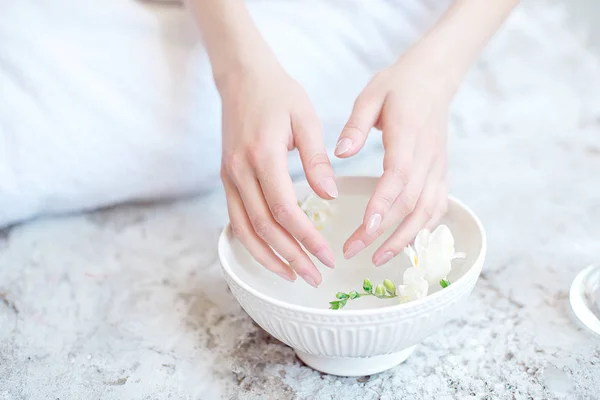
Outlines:
<svg viewBox="0 0 600 400"><path fill-rule="evenodd" d="M287 166L297 148L317 195L337 196L321 126L304 90L281 67L244 0L190 0L221 95L221 178L233 232L269 270L312 286L321 274L300 244L333 268L333 251L300 210ZM278 256L281 256L282 261Z"/></svg>

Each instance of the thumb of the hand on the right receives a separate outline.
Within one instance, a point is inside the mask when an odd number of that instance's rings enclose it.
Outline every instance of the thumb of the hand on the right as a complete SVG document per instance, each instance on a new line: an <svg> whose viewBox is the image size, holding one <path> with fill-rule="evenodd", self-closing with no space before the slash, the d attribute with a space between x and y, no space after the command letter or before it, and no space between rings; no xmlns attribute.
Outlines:
<svg viewBox="0 0 600 400"><path fill-rule="evenodd" d="M368 88L358 96L335 146L334 154L337 157L351 157L364 146L369 131L377 124L384 100L384 94Z"/></svg>

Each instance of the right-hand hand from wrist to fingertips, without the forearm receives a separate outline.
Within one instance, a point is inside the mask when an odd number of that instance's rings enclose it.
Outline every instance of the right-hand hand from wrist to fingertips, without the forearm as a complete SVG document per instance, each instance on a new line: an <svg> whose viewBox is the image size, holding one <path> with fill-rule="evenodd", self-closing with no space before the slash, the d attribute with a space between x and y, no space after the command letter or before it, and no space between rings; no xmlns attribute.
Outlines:
<svg viewBox="0 0 600 400"><path fill-rule="evenodd" d="M375 265L385 264L446 213L446 128L456 84L431 56L414 47L375 75L340 135L335 150L340 158L358 153L372 127L383 131L385 148L383 175L363 224L344 244L345 258L395 229L373 254Z"/></svg>

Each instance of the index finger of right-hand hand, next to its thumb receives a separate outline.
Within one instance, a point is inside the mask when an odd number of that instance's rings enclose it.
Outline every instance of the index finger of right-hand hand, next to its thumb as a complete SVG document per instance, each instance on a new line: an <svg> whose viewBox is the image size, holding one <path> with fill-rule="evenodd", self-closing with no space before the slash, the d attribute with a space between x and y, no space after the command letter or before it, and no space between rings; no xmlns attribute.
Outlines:
<svg viewBox="0 0 600 400"><path fill-rule="evenodd" d="M384 171L365 210L363 224L368 235L377 231L408 184L415 152L416 129L398 121L397 111L389 101L383 109Z"/></svg>

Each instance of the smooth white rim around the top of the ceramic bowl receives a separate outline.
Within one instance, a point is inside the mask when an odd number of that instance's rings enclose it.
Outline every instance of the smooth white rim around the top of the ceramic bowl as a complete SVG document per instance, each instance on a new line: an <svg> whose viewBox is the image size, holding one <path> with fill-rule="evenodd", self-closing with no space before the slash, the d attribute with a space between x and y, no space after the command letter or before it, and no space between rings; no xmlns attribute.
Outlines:
<svg viewBox="0 0 600 400"><path fill-rule="evenodd" d="M349 178L350 179L355 179L355 178L372 178L372 179L374 179L374 178L379 178L379 177L347 175L347 176L336 177L336 180L349 179ZM302 184L302 183L307 183L307 181L306 180L296 181L296 182L294 182L294 186L296 186L297 184ZM483 228L483 224L481 223L481 221L479 220L477 215L473 212L473 210L471 210L468 206L466 206L462 201L458 200L456 197L449 195L448 200L451 203L462 208L464 211L466 211L467 214L469 214L469 216L475 221L475 224L477 225L477 228L479 230L479 234L481 235L481 250L479 251L479 255L473 262L473 265L471 266L471 268L469 268L469 270L463 276L458 278L457 281L453 282L452 285L450 285L445 290L439 290L435 293L427 295L418 300L413 300L413 301L409 301L406 303L399 303L399 304L395 304L393 306L368 308L368 309L361 309L361 310L345 310L345 309L331 310L331 309L314 308L314 307L307 307L307 306L302 306L302 305L294 304L294 303L288 303L286 301L279 300L274 297L268 296L264 293L259 292L256 289L254 289L252 286L248 285L242 279L240 279L233 272L227 259L223 256L224 247L227 242L227 236L228 236L229 232L231 231L231 223L229 221L223 227L223 230L221 231L221 234L219 235L219 243L218 243L219 261L220 261L221 267L225 271L225 273L237 285L239 285L243 290L250 293L252 296L254 296L256 298L265 301L266 303L270 303L270 304L273 304L275 306L278 306L278 307L281 307L281 308L284 308L284 309L287 309L290 311L295 311L295 312L299 312L299 313L307 313L307 314L312 314L312 315L324 315L324 316L336 316L336 315L342 316L343 315L343 316L347 317L347 316L364 316L364 315L373 315L373 314L390 314L390 313L394 313L397 311L403 311L403 310L407 310L407 309L411 309L411 308L419 308L423 304L435 302L437 298L444 296L444 293L448 294L455 290L459 290L460 287L462 287L464 284L466 284L467 275L472 275L474 273L473 271L476 269L474 267L477 265L480 265L480 264L483 265L483 260L486 255L486 251L487 251L486 232L485 232L485 229ZM479 276L479 274L477 274L477 275Z"/></svg>

